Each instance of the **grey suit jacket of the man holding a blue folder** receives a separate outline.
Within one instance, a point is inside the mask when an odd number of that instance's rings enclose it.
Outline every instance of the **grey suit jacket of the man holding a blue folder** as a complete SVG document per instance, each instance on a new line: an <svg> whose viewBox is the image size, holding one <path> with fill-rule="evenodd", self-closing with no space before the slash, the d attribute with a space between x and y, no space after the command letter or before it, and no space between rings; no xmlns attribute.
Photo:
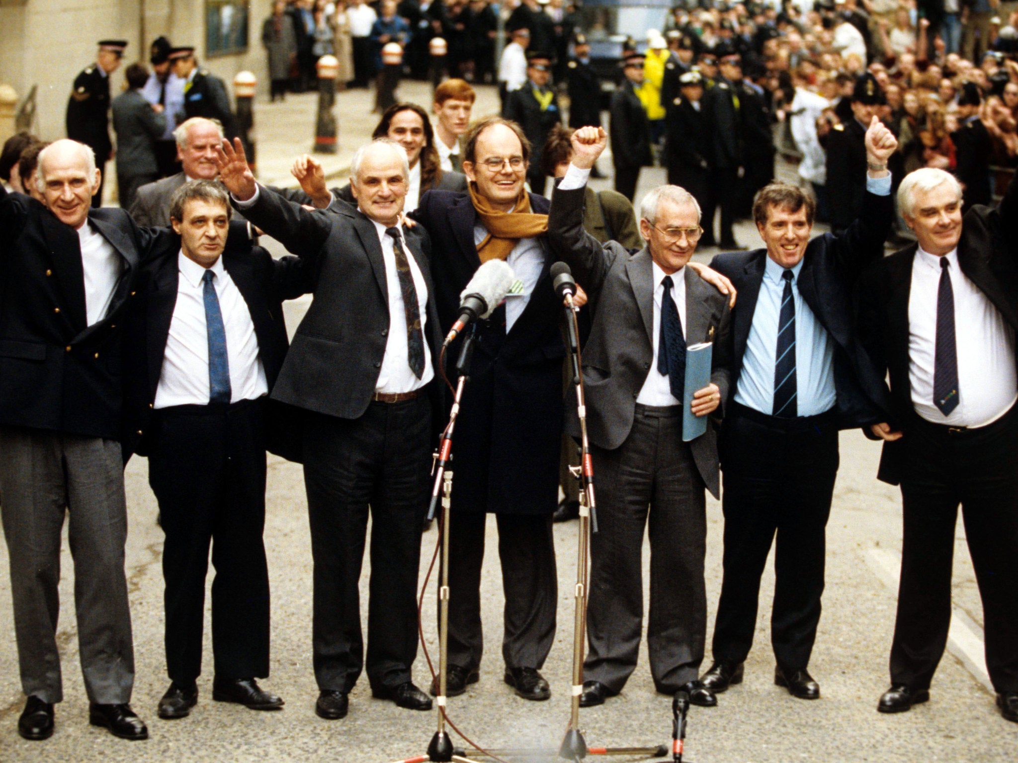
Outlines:
<svg viewBox="0 0 1018 763"><path fill-rule="evenodd" d="M583 230L584 189L552 195L549 241L572 269L590 297L592 326L583 347L583 386L590 443L605 450L621 446L632 428L639 395L654 361L654 270L644 247L635 254L615 241L601 244ZM711 380L728 397L731 309L728 298L691 269L684 271L686 343L714 342ZM711 493L720 493L717 421L689 444L696 468ZM579 433L575 405L567 406L567 426Z"/></svg>

